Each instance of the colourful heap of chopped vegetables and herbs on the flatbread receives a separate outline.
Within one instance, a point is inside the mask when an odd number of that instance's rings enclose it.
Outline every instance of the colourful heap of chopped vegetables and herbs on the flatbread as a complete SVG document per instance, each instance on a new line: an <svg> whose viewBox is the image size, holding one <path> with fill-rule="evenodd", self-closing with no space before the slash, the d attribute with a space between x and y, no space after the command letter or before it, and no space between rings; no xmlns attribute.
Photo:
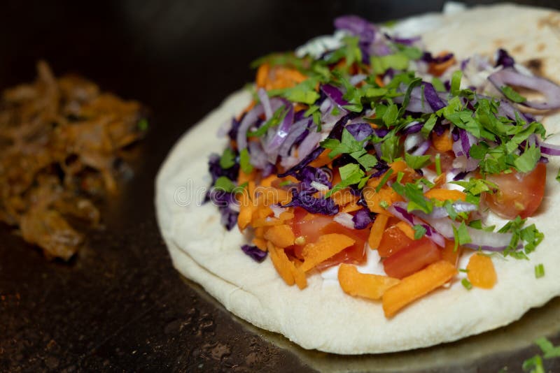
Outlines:
<svg viewBox="0 0 560 373"><path fill-rule="evenodd" d="M387 317L454 279L461 256L465 289L492 288L491 256L473 250L527 258L543 239L525 219L560 147L526 110L560 108L560 87L505 50L493 64L458 61L356 16L335 27L324 43L253 64L253 103L209 162L224 226L248 230L254 246L243 251L255 261L268 252L288 285L339 265L342 290L382 299ZM496 229L489 214L510 221ZM386 276L367 272L370 250Z"/></svg>

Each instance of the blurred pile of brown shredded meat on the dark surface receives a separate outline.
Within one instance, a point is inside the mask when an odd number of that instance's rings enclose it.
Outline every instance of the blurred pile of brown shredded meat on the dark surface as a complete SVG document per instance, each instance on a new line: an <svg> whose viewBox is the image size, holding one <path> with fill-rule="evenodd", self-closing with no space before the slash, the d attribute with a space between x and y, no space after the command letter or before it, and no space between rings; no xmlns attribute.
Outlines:
<svg viewBox="0 0 560 373"><path fill-rule="evenodd" d="M116 192L116 164L144 119L135 101L78 76L55 78L44 61L37 71L0 101L0 221L48 258L68 260L79 228L99 223L94 200Z"/></svg>

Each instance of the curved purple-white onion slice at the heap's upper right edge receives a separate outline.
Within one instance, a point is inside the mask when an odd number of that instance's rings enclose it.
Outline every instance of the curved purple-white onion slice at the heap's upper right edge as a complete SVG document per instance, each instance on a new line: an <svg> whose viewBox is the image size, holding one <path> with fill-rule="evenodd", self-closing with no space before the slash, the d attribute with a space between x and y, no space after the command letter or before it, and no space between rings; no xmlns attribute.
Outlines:
<svg viewBox="0 0 560 373"><path fill-rule="evenodd" d="M533 109L550 110L560 108L560 86L545 78L529 76L519 73L514 68L503 68L491 74L488 80L499 90L505 85L513 85L533 89L542 93L545 101L524 101L521 105Z"/></svg>

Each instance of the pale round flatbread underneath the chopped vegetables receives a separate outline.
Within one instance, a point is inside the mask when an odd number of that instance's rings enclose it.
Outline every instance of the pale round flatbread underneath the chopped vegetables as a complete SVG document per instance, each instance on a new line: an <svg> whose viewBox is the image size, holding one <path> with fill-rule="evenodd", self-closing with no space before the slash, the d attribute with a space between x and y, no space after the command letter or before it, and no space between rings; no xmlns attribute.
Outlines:
<svg viewBox="0 0 560 373"><path fill-rule="evenodd" d="M424 19L407 22L422 24ZM423 41L430 51L449 50L461 59L505 47L521 63L540 59L542 75L551 79L560 76L556 74L560 68L559 13L500 5L460 15L430 15L429 20L432 28L424 28ZM233 314L279 332L305 349L383 353L454 341L505 326L560 294L560 237L555 232L560 206L557 159L547 165L542 206L528 219L545 233L545 240L528 261L494 256L498 283L492 290L466 291L455 281L386 319L380 302L346 295L318 273L308 277L308 286L302 291L286 286L269 258L255 263L241 251L239 247L249 237L237 228L226 231L217 208L201 204L210 183L208 157L221 153L227 142L216 133L250 101L247 92L237 92L202 119L176 143L156 180L158 222L174 266ZM547 131L559 131L558 115L544 122ZM534 274L538 263L546 269L540 279Z"/></svg>

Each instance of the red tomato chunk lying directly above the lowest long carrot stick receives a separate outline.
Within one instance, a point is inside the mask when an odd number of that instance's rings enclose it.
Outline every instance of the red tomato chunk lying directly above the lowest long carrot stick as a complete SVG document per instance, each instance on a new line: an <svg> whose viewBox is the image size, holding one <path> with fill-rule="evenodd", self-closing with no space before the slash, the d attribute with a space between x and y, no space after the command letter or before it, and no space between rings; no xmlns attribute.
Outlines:
<svg viewBox="0 0 560 373"><path fill-rule="evenodd" d="M412 241L409 246L389 256L383 261L385 273L389 277L402 279L442 258L442 253L426 237Z"/></svg>

